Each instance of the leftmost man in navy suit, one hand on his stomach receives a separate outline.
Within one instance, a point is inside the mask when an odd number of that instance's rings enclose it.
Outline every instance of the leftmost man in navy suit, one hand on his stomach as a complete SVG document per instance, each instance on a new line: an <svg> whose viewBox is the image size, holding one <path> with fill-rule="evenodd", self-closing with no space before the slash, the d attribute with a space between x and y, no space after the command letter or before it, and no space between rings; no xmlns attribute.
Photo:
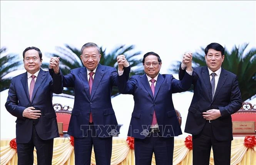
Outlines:
<svg viewBox="0 0 256 165"><path fill-rule="evenodd" d="M59 59L56 58L56 65ZM27 72L12 78L5 107L16 120L18 165L33 165L33 150L37 164L51 165L53 142L59 137L52 93L62 93L62 77L40 69L42 52L37 47L23 51Z"/></svg>

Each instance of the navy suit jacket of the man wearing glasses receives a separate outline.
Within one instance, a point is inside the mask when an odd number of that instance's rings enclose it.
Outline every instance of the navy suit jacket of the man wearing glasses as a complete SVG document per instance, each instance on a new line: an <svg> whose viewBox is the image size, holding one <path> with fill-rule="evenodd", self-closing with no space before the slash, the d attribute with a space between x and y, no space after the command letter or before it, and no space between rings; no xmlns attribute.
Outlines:
<svg viewBox="0 0 256 165"><path fill-rule="evenodd" d="M132 76L128 81L124 75L119 76L119 91L134 96L134 109L128 136L144 139L149 132L154 110L160 134L163 137L182 134L172 103L172 93L188 90L192 79L193 76L187 73L182 81L176 80L169 74L159 74L153 96L146 74Z"/></svg>

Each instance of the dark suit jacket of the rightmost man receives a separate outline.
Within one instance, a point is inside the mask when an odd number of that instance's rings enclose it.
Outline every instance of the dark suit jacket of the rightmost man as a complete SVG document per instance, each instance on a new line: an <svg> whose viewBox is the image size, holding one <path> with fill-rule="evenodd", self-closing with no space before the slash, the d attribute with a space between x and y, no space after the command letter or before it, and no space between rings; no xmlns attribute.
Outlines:
<svg viewBox="0 0 256 165"><path fill-rule="evenodd" d="M242 106L241 93L235 74L221 68L219 81L212 99L211 82L207 67L193 69L194 96L187 114L185 132L197 135L207 122L202 113L209 109L219 109L221 117L211 121L212 132L216 140L233 140L231 114ZM182 79L184 70L179 69L179 78Z"/></svg>

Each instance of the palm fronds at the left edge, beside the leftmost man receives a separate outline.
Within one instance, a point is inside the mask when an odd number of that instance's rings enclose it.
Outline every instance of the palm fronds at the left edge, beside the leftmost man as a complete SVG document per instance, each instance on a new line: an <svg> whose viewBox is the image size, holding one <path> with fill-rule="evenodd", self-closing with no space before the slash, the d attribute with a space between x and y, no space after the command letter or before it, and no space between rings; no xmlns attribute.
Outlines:
<svg viewBox="0 0 256 165"><path fill-rule="evenodd" d="M12 77L5 77L8 73L17 70L22 64L18 54L3 55L7 51L6 47L0 49L0 91L6 90L10 87Z"/></svg>

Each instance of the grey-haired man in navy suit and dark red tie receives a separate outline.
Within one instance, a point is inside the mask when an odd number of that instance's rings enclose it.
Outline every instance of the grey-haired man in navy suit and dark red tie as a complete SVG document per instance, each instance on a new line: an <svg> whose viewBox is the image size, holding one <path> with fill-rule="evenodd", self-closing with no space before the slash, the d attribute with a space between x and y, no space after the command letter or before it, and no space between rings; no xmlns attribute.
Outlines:
<svg viewBox="0 0 256 165"><path fill-rule="evenodd" d="M90 165L92 146L97 165L110 165L112 136L119 134L117 119L111 104L112 87L117 86L117 70L100 65L100 48L89 42L81 49L85 67L72 69L62 75L63 86L75 91L75 102L69 122L68 134L74 136L76 165ZM123 55L122 55L123 57ZM57 59L55 59L57 60ZM50 74L59 73L59 66L50 61ZM129 63L124 64L129 77Z"/></svg>

